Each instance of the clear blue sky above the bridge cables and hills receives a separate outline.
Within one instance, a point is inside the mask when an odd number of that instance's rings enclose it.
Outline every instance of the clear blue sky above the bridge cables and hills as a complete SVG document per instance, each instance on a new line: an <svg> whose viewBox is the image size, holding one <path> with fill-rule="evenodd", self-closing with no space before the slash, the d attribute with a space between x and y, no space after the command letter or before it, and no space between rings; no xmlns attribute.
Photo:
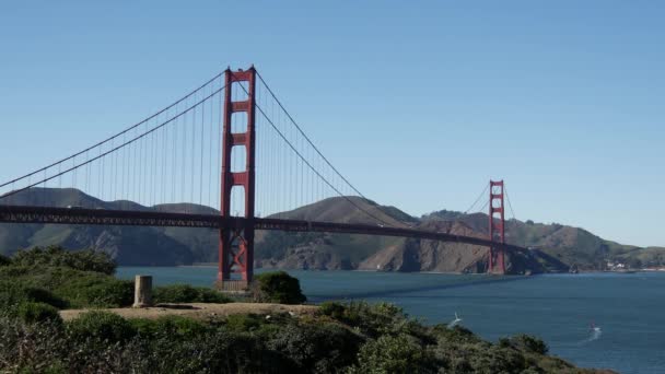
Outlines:
<svg viewBox="0 0 665 374"><path fill-rule="evenodd" d="M368 196L665 245L665 2L5 1L0 179L255 63Z"/></svg>

